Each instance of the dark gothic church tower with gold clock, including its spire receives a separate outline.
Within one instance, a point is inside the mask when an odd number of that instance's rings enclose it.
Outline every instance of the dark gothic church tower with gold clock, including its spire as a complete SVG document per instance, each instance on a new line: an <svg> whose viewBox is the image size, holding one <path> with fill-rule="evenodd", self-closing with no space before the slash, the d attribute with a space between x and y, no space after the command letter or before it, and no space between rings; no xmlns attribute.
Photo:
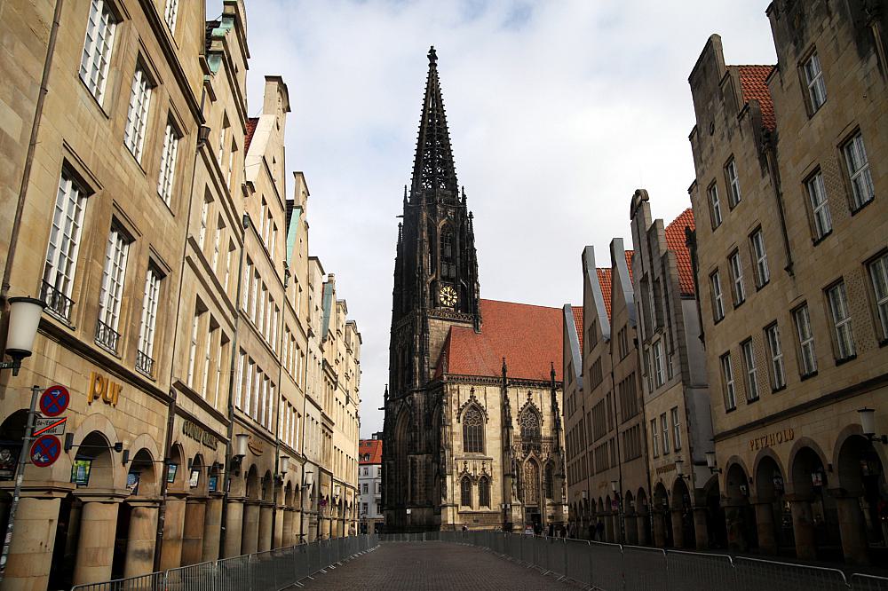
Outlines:
<svg viewBox="0 0 888 591"><path fill-rule="evenodd" d="M390 529L429 529L440 523L440 414L435 414L427 385L449 328L477 331L481 323L472 213L456 182L433 47L428 57L392 291L383 462L383 504Z"/></svg>

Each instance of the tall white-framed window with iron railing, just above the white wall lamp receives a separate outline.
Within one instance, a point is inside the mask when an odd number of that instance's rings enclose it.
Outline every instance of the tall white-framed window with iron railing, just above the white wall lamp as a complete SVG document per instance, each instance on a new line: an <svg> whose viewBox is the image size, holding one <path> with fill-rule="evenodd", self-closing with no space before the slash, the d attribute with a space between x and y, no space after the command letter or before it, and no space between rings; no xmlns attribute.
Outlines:
<svg viewBox="0 0 888 591"><path fill-rule="evenodd" d="M56 194L50 240L46 246L44 285L41 289L46 308L62 319L71 317L71 292L77 270L80 233L86 193L67 171L62 170Z"/></svg>

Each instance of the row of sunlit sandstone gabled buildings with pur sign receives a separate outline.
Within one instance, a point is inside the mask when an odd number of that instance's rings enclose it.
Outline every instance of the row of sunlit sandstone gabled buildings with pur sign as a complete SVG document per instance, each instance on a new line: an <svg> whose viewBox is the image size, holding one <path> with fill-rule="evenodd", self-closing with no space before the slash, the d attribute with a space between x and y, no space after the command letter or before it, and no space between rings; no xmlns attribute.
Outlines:
<svg viewBox="0 0 888 591"><path fill-rule="evenodd" d="M316 537L322 469L351 491L340 518L353 505L360 333L344 302L344 344L313 331L308 190L297 173L289 196L284 174L287 87L267 77L247 117L246 12L223 5L209 22L202 3L170 0L4 8L20 49L0 65L0 205L16 212L0 220L3 324L10 296L47 304L34 354L0 378L4 528L29 386L71 395L59 460L25 469L4 588ZM321 390L308 353L330 348L346 351L347 408L312 413L340 433L337 465L305 437L305 393Z"/></svg>

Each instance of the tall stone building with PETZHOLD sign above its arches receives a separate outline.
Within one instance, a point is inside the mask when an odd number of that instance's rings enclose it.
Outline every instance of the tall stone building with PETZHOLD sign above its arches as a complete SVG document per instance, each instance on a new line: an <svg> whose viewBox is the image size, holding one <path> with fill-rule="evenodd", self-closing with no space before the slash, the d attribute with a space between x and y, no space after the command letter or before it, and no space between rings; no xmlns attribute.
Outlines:
<svg viewBox="0 0 888 591"><path fill-rule="evenodd" d="M875 409L876 435L888 431L878 4L775 1L776 66L727 66L713 35L690 75L696 276L732 548L866 563L885 544L888 458L859 413Z"/></svg>

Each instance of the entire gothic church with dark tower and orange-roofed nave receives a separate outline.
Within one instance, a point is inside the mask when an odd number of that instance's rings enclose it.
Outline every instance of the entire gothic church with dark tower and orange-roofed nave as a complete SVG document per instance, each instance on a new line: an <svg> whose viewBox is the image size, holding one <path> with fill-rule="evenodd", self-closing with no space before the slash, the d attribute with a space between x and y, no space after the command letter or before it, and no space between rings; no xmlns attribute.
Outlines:
<svg viewBox="0 0 888 591"><path fill-rule="evenodd" d="M480 299L472 213L456 182L434 48L403 200L385 395L385 526L564 522L561 311Z"/></svg>

